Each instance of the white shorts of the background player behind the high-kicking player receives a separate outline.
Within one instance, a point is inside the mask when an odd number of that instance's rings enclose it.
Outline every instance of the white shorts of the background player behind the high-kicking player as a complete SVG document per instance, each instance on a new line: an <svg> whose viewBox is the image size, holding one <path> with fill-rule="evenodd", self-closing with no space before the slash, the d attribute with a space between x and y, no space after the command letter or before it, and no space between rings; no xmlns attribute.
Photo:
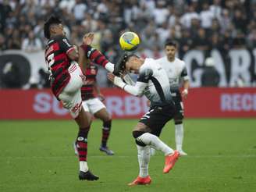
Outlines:
<svg viewBox="0 0 256 192"><path fill-rule="evenodd" d="M90 98L83 101L84 111L94 114L100 111L102 108L106 108L105 105L98 98Z"/></svg>

